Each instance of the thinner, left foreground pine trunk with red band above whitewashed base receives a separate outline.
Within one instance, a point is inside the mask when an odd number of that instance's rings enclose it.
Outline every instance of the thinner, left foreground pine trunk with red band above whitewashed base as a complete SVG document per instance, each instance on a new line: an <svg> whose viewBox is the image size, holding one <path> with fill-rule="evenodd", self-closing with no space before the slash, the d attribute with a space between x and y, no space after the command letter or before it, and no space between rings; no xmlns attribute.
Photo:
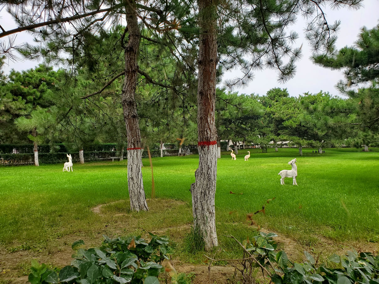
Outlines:
<svg viewBox="0 0 379 284"><path fill-rule="evenodd" d="M125 47L125 79L122 86L122 108L128 136L128 189L130 209L132 211L148 211L142 180L141 133L139 131L137 105L135 100L137 83L137 56L139 49L139 28L136 4L129 1L125 5L126 22L129 32L128 45Z"/></svg>

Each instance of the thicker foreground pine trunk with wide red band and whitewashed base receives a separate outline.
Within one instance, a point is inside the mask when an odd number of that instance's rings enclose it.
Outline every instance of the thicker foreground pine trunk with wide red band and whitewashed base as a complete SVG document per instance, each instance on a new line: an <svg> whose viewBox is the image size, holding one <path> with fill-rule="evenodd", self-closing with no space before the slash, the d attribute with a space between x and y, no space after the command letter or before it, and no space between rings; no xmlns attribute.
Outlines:
<svg viewBox="0 0 379 284"><path fill-rule="evenodd" d="M194 228L205 242L205 249L218 245L215 194L217 178L216 108L216 10L213 2L199 0L199 71L197 88L197 135L199 168L191 185Z"/></svg>

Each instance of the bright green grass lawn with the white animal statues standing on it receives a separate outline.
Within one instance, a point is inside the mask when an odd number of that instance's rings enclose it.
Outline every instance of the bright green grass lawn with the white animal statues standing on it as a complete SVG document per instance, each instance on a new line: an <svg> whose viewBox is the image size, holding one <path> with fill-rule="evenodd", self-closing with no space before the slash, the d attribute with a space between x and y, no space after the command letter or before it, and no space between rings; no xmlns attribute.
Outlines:
<svg viewBox="0 0 379 284"><path fill-rule="evenodd" d="M360 149L325 149L323 154L304 156L294 148L275 153L240 150L236 161L228 153L218 160L216 223L220 247L234 244L223 237L233 233L240 238L256 233L247 226L246 213L266 204L266 215L255 221L267 230L290 236L312 247L319 237L336 242L377 243L379 235L379 149L363 153ZM299 186L292 179L280 185L278 173L298 162ZM149 160L144 159L146 197L151 192ZM191 193L198 156L153 158L158 200L148 201L150 212L129 212L126 161L74 164L74 172L62 173L63 165L40 167L0 167L0 249L52 250L76 239L99 242L101 234L130 234L162 231L192 223ZM230 194L243 193L242 195ZM113 201L125 200L112 203ZM91 208L108 204L99 209ZM186 231L188 233L189 229ZM186 253L186 233L171 230L177 239L177 252L189 261L198 256ZM69 246L69 245L68 245ZM5 254L3 254L5 255ZM1 254L0 254L1 257ZM197 260L196 260L197 257Z"/></svg>

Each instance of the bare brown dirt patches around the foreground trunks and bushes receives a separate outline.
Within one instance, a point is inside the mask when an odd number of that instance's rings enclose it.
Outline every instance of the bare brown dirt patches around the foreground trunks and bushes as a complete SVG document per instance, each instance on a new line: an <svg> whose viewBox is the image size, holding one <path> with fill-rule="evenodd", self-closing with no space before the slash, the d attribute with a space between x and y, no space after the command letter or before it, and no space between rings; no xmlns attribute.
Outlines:
<svg viewBox="0 0 379 284"><path fill-rule="evenodd" d="M114 203L121 202L116 201ZM175 201L176 203L180 201ZM112 204L114 204L112 203ZM106 217L106 211L104 206L110 204L100 204L95 208L92 208L92 212L99 214L100 216ZM174 206L174 205L171 205ZM121 214L125 215L125 214ZM114 214L116 216L116 214ZM120 224L114 224L111 226L111 230L114 230ZM122 227L121 227L122 228ZM183 224L176 227L163 228L158 231L153 231L156 234L165 234L168 231L177 231L179 235L188 233L191 229L191 224ZM271 230L261 228L261 231L269 233L273 232ZM117 233L117 232L116 232ZM121 233L121 231L120 231ZM298 241L291 239L288 236L276 232L278 237L275 238L279 247L284 249L288 255L289 259L301 261L304 259L304 250L309 251L310 247L302 246ZM336 254L345 254L347 251L356 249L357 251L370 251L377 252L379 251L379 243L358 243L358 242L344 242L338 243L334 240L327 239L322 236L317 236L319 242L317 242L313 247L312 251L309 251L316 257L319 255L330 255L332 253ZM71 243L77 239L83 239L87 247L96 247L102 241L102 234L99 233L96 237L88 236L64 236L60 239L55 240L54 245L51 247L36 251L36 250L18 250L13 253L6 251L0 247L0 284L9 284L9 283L27 283L28 274L30 268L31 259L36 259L37 261L44 262L49 267L63 267L69 265L73 253L71 249ZM204 283L230 283L231 278L235 272L235 267L233 262L229 262L226 266L211 266L210 279L208 274L208 265L207 264L189 264L183 263L179 259L173 259L172 264L174 265L177 272L190 273L190 279L192 284L204 284Z"/></svg>

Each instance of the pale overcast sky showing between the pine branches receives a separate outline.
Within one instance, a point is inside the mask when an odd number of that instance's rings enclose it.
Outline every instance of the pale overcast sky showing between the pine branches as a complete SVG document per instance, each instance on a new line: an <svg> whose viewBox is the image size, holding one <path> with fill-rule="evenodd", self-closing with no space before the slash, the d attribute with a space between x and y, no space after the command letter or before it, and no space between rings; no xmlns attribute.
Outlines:
<svg viewBox="0 0 379 284"><path fill-rule="evenodd" d="M359 10L331 10L325 8L324 12L326 13L329 23L335 20L341 20L340 30L338 31L337 48L346 45L351 46L354 41L356 41L360 28L363 26L373 28L378 24L379 0L365 0L363 1L363 7ZM16 24L9 17L5 9L0 11L0 25L6 30L16 27ZM299 33L299 39L296 45L300 46L303 44L302 59L297 62L296 75L293 79L286 83L278 83L277 73L274 70L263 70L261 72L255 72L254 80L249 82L247 87L236 89L235 91L245 94L255 93L264 95L271 88L281 87L287 88L291 96L298 96L304 92L317 93L321 90L328 91L334 95L340 95L335 89L335 84L338 80L343 78L342 73L312 64L309 59L311 56L310 48L304 38L305 27L306 22L301 17L299 17L296 25L291 27L291 30ZM33 37L26 32L17 34L16 43L21 44L23 42L33 42ZM6 73L9 73L9 70L12 68L15 70L25 70L33 68L38 64L36 61L7 61L7 63L8 65L3 68ZM227 73L224 78L233 78L235 76L238 76L238 70Z"/></svg>

